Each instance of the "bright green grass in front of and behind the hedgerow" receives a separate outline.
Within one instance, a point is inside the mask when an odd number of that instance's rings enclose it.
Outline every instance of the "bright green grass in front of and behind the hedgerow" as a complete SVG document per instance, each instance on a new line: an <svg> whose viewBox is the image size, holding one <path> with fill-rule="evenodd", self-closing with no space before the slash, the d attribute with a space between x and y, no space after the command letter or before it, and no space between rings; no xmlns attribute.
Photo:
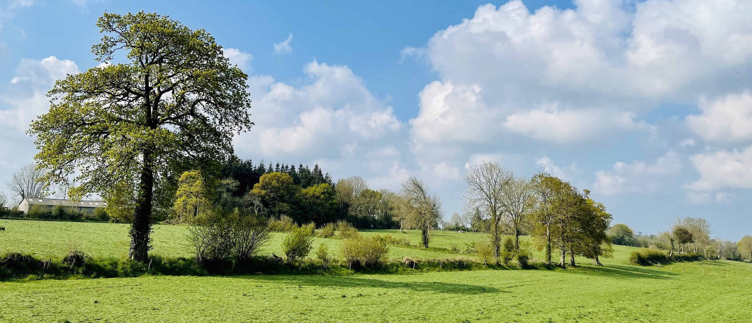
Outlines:
<svg viewBox="0 0 752 323"><path fill-rule="evenodd" d="M0 252L59 255L76 241L92 255L121 255L126 226L0 221ZM382 234L384 232L381 232ZM389 231L393 235L399 231ZM185 227L156 226L154 252L190 255ZM375 233L366 233L375 234ZM417 242L416 232L404 234ZM282 235L266 252L279 252ZM437 232L435 246L481 234ZM337 246L339 240L321 239ZM456 254L393 248L393 257ZM605 267L475 270L356 276L144 276L0 282L5 322L742 322L752 321L752 264L626 264L614 246ZM422 254L421 252L426 252ZM420 254L420 255L419 255ZM537 254L538 257L540 254Z"/></svg>

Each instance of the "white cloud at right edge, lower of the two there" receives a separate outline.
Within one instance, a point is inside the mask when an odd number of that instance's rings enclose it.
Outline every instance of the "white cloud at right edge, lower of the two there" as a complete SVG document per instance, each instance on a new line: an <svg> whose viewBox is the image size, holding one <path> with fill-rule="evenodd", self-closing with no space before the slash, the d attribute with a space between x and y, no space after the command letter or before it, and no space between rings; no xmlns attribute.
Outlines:
<svg viewBox="0 0 752 323"><path fill-rule="evenodd" d="M752 189L752 147L719 150L690 157L700 178L684 186L696 191Z"/></svg>

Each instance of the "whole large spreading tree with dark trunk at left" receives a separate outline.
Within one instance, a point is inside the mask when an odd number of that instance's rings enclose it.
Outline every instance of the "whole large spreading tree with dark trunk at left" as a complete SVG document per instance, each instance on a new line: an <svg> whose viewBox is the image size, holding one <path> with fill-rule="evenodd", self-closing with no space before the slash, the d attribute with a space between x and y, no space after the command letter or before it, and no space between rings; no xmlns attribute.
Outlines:
<svg viewBox="0 0 752 323"><path fill-rule="evenodd" d="M50 180L80 171L72 196L134 196L129 255L146 261L156 174L232 153L253 125L247 75L204 29L167 16L105 13L96 26L105 35L92 53L107 64L57 81L29 134Z"/></svg>

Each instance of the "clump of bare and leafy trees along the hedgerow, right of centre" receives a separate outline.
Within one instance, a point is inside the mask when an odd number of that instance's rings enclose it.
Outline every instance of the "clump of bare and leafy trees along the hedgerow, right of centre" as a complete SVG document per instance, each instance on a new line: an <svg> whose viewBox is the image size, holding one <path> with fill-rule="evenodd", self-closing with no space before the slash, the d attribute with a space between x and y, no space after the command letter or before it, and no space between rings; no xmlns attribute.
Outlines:
<svg viewBox="0 0 752 323"><path fill-rule="evenodd" d="M575 265L575 255L592 258L611 256L611 239L606 231L611 214L605 206L590 198L590 191L577 188L550 174L536 174L531 179L519 177L497 162L481 162L468 168L465 208L472 226L486 226L496 263L523 257L519 236L532 232L538 249L545 250L551 263L554 249L559 250L559 265ZM483 220L484 222L481 222ZM502 235L513 237L502 246ZM503 247L503 248L502 248Z"/></svg>

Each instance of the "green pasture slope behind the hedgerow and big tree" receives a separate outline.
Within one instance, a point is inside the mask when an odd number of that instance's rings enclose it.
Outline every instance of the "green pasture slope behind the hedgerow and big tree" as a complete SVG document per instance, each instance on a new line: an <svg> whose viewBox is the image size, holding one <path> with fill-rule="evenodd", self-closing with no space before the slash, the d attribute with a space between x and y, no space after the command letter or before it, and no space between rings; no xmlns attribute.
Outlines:
<svg viewBox="0 0 752 323"><path fill-rule="evenodd" d="M120 257L126 255L129 246L129 225L117 223L96 222L52 222L52 221L26 221L26 220L0 220L0 253L4 252L32 252L41 257L62 257L65 255L68 244L74 243L94 257ZM154 225L152 234L153 249L156 255L169 257L188 257L192 255L192 247L187 239L186 225ZM392 231L399 234L399 230ZM436 231L433 234L435 243L447 245L448 240L454 240L451 235L462 235L456 232ZM370 233L369 233L370 234ZM407 236L414 235L405 234ZM482 239L481 234L470 234ZM275 253L282 255L282 240L285 234L276 233L265 246L263 254ZM417 239L420 240L420 234ZM447 240L447 241L444 241ZM314 239L314 251L320 243L329 246L329 252L338 255L341 240ZM416 243L417 244L417 243ZM312 253L313 253L312 252ZM457 258L456 255L447 252L435 252L413 248L392 246L391 258ZM464 256L462 256L464 257Z"/></svg>

